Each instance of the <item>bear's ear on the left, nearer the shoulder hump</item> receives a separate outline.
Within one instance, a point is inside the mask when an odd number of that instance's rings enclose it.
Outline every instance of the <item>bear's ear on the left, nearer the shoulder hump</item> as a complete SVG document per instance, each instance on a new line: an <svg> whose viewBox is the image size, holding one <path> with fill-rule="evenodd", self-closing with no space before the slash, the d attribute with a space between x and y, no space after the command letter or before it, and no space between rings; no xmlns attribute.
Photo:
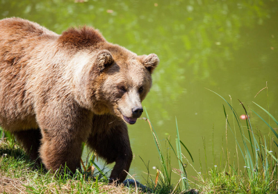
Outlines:
<svg viewBox="0 0 278 194"><path fill-rule="evenodd" d="M97 68L99 71L104 71L107 67L113 64L114 59L112 54L107 50L102 50L97 53Z"/></svg>

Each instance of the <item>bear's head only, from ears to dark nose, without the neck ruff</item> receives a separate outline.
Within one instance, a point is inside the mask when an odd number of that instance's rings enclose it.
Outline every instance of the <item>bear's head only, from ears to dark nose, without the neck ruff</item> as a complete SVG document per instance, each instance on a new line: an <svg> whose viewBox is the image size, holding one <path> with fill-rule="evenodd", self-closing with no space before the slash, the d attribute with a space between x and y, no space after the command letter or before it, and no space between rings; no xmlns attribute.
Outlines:
<svg viewBox="0 0 278 194"><path fill-rule="evenodd" d="M99 51L95 112L115 114L126 123L136 123L143 112L141 103L152 86L152 72L158 62L155 54L138 56L115 45Z"/></svg>

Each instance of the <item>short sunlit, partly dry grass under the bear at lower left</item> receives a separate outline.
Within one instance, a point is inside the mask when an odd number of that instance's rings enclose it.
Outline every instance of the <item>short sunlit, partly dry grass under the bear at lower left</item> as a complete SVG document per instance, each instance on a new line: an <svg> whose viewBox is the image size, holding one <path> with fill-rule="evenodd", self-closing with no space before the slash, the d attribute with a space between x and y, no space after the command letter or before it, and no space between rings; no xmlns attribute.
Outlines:
<svg viewBox="0 0 278 194"><path fill-rule="evenodd" d="M8 133L0 142L0 169L0 193L141 193L108 184L105 175L98 172L77 172L73 176L45 172L28 159Z"/></svg>

